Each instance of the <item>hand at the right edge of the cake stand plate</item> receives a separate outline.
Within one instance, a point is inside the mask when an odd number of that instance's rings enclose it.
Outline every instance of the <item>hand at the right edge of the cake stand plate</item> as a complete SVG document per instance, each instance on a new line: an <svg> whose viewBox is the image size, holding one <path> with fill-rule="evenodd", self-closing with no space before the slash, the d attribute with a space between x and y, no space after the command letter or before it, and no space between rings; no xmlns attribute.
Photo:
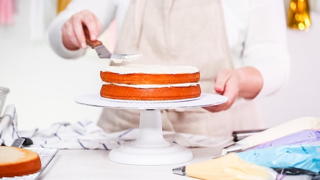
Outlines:
<svg viewBox="0 0 320 180"><path fill-rule="evenodd" d="M223 69L215 77L215 91L226 96L227 102L215 106L203 107L216 113L230 108L238 97L245 99L255 98L261 91L263 79L260 72L253 67L237 70Z"/></svg>

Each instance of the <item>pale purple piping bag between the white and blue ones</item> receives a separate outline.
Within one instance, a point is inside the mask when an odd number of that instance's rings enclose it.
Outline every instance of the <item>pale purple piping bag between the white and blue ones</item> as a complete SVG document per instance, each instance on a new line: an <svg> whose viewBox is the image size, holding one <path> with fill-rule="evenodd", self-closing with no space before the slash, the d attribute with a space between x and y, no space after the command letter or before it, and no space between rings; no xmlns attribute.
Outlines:
<svg viewBox="0 0 320 180"><path fill-rule="evenodd" d="M309 144L318 141L320 141L320 129L307 129L288 134L287 136L259 144L249 149L260 149L282 145Z"/></svg>

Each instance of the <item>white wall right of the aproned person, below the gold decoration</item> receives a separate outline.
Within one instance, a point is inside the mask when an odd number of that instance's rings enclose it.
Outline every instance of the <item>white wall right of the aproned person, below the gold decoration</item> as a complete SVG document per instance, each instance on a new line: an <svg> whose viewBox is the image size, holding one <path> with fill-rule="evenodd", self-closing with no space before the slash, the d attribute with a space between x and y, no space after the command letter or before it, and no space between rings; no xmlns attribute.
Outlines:
<svg viewBox="0 0 320 180"><path fill-rule="evenodd" d="M279 93L259 100L265 125L320 117L320 13L311 13L309 32L288 29L291 77Z"/></svg>

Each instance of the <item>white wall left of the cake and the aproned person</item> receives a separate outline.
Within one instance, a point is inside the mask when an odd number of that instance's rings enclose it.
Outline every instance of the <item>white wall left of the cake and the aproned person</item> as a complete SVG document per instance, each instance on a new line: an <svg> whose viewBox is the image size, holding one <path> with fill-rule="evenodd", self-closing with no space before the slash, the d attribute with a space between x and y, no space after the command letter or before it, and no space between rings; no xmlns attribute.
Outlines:
<svg viewBox="0 0 320 180"><path fill-rule="evenodd" d="M6 104L14 104L18 129L47 128L55 122L96 121L101 108L77 104L74 98L99 93L100 69L108 64L93 50L65 60L46 40L30 40L30 1L17 2L12 26L0 26L0 86L10 89Z"/></svg>

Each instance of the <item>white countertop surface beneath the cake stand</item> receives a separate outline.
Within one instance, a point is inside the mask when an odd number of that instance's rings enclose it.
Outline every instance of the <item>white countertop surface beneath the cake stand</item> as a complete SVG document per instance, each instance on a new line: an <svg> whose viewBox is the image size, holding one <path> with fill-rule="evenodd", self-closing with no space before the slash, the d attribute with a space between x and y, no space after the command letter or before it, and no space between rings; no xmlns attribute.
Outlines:
<svg viewBox="0 0 320 180"><path fill-rule="evenodd" d="M195 179L173 174L172 169L214 158L221 148L191 148L192 161L162 166L114 163L108 160L107 150L60 149L39 179Z"/></svg>

